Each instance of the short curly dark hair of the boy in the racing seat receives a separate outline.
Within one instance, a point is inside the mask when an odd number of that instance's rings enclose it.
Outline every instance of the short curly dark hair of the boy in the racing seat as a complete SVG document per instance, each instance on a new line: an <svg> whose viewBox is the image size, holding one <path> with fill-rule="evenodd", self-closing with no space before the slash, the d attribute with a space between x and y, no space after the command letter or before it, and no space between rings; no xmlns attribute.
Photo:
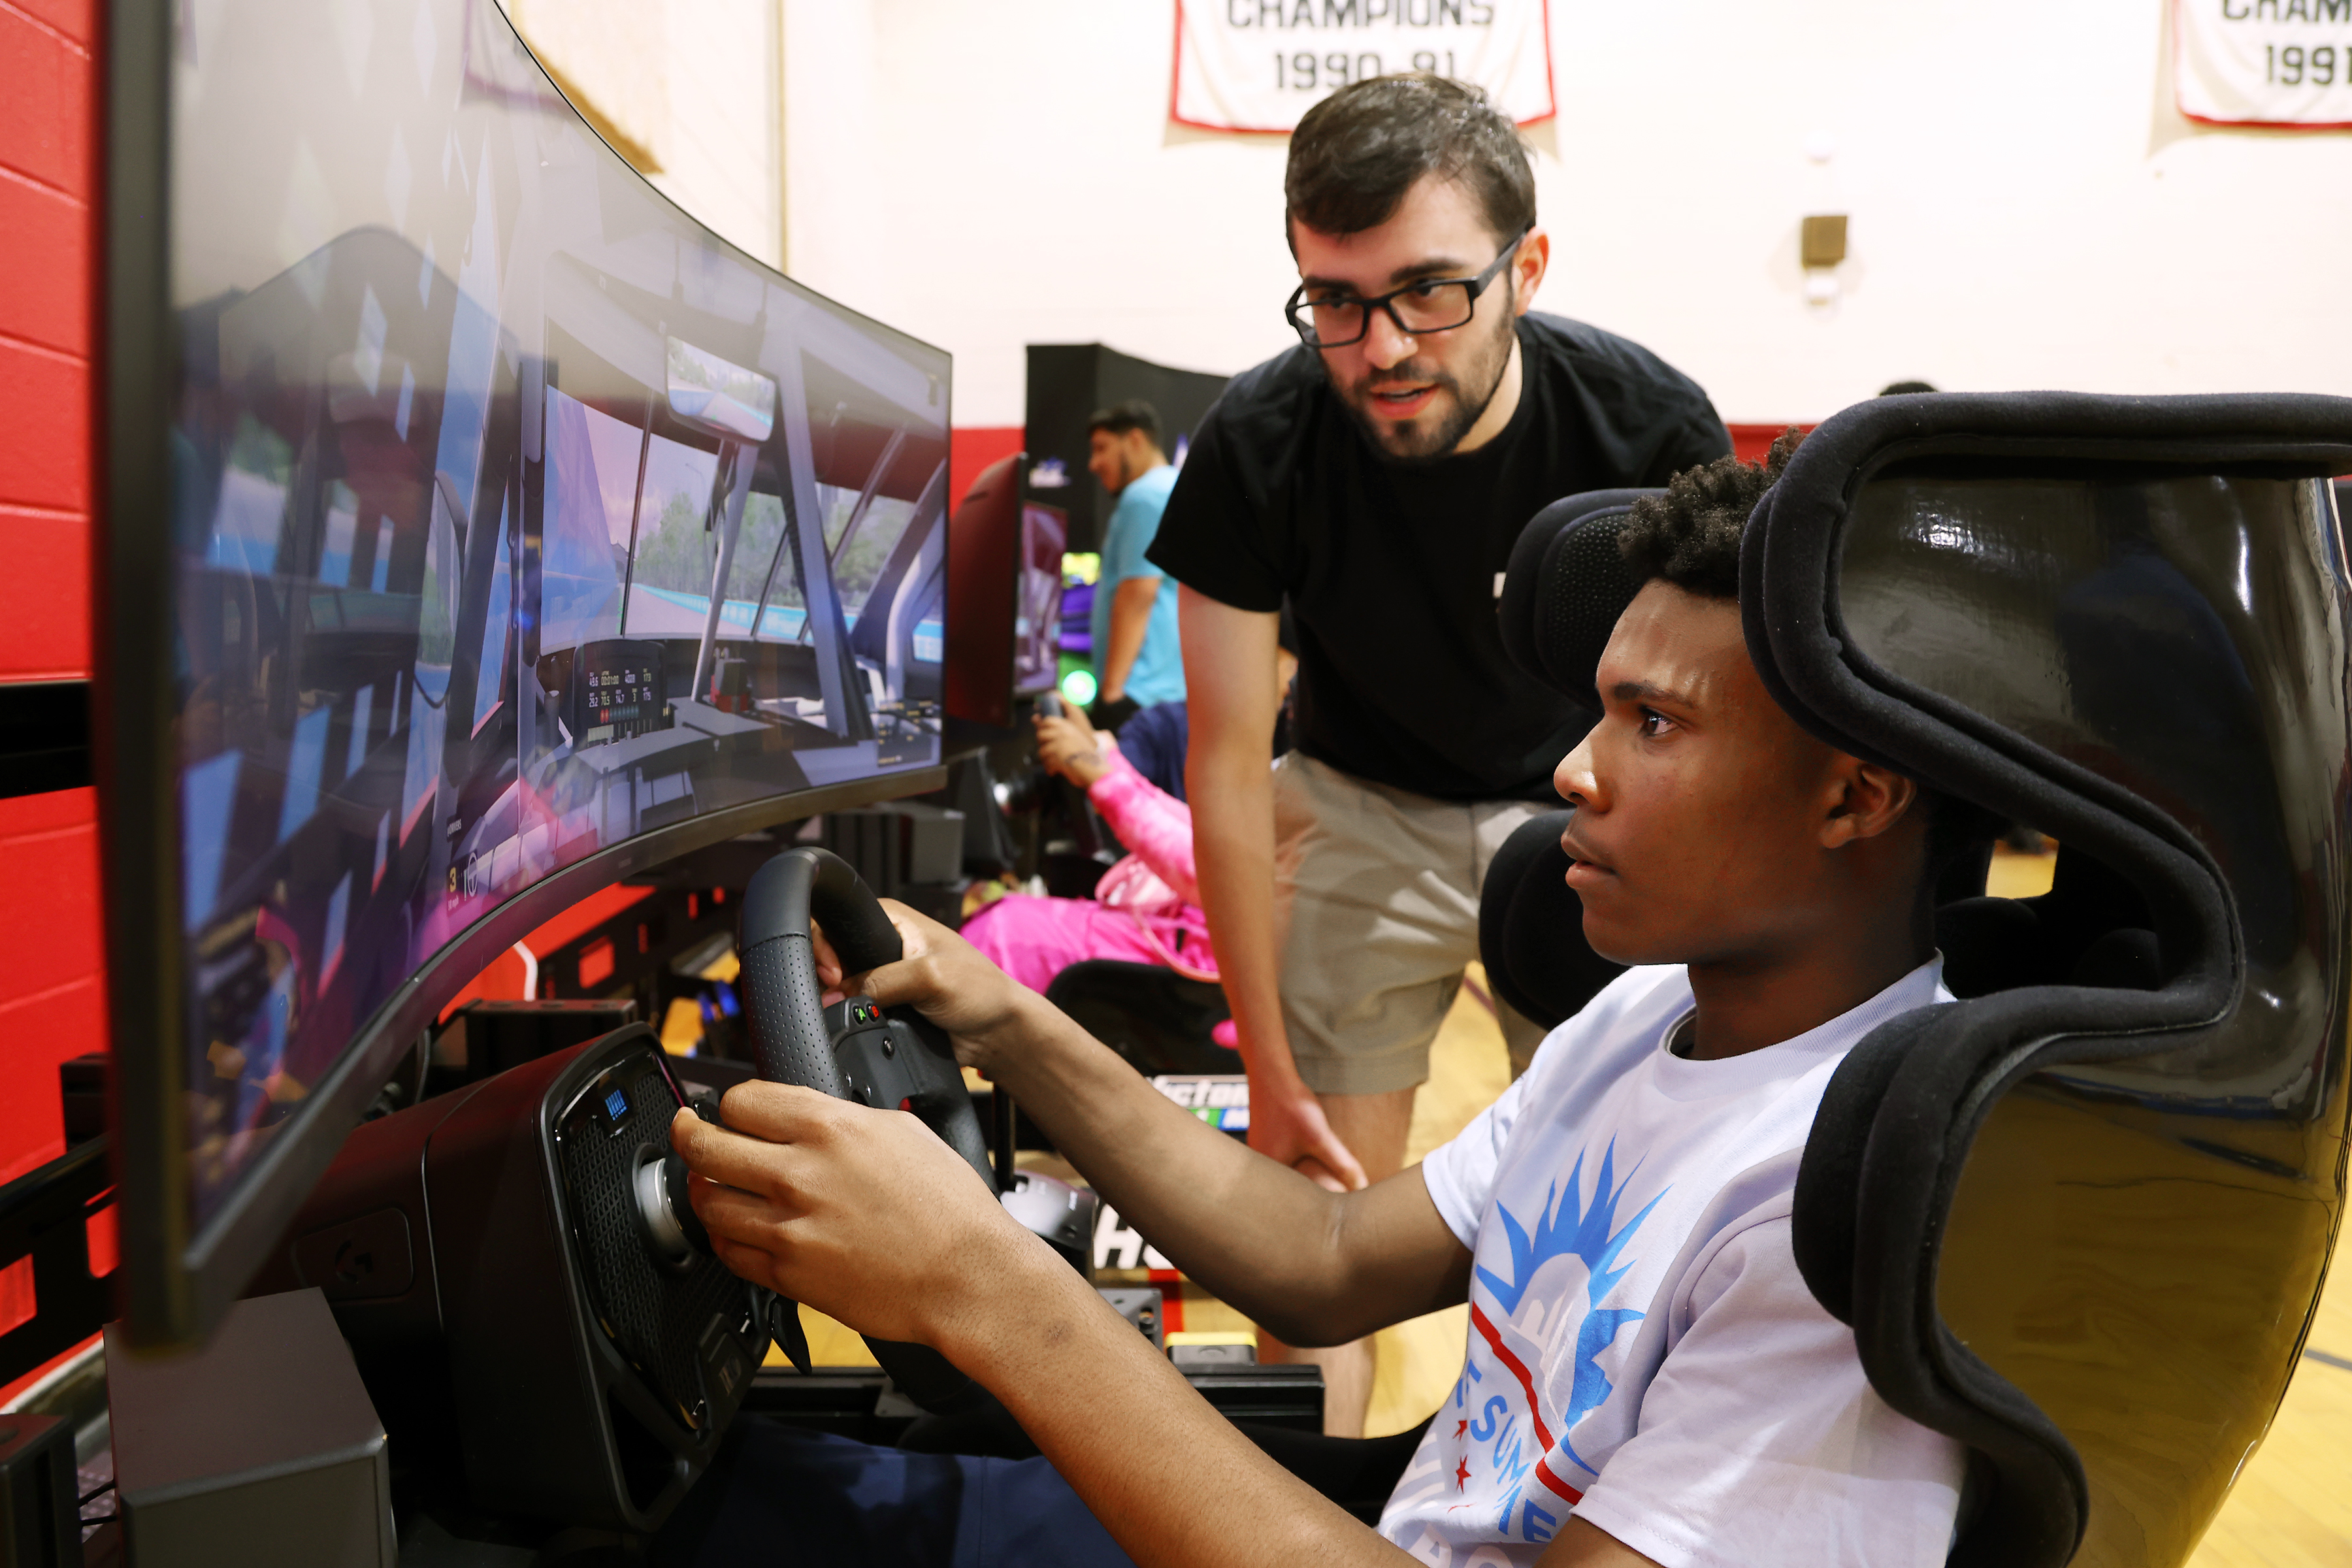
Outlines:
<svg viewBox="0 0 2352 1568"><path fill-rule="evenodd" d="M1780 482L1799 444L1804 433L1790 425L1762 463L1722 456L1684 468L1668 480L1663 496L1635 501L1618 534L1618 550L1632 576L1642 583L1665 578L1710 599L1738 599L1740 534L1748 529L1748 515L1757 510L1764 491ZM1959 875L1952 896L1983 893L1983 860L1992 851L2002 818L1926 783L1919 783L1919 806L1926 818L1929 879L1936 882L1955 870ZM1964 886L1969 882L1969 867L1959 865L1964 856L1976 863L1973 886ZM1962 886L1964 891L1957 891Z"/></svg>

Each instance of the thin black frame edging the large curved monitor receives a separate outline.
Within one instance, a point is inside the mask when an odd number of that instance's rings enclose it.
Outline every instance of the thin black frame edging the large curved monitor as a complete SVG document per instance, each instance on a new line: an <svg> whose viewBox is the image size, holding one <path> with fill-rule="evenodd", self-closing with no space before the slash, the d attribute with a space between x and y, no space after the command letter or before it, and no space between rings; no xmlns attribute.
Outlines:
<svg viewBox="0 0 2352 1568"><path fill-rule="evenodd" d="M795 818L938 790L948 776L938 762L746 802L600 849L522 889L435 952L353 1032L353 1044L303 1107L235 1178L219 1208L195 1225L183 1107L179 715L172 705L167 550L172 386L181 357L169 249L172 49L169 0L108 0L106 92L96 110L106 172L92 310L99 374L89 390L96 447L89 538L92 778L99 790L106 1004L115 1058L113 1173L122 1260L115 1305L132 1345L143 1349L202 1342L280 1241L376 1088L414 1053L416 1037L440 1009L501 950L588 893L663 860ZM562 94L553 78L548 92ZM562 101L569 108L569 99ZM586 115L572 113L687 226L739 263L783 277L670 202ZM953 440L953 355L837 301L826 303L948 362L941 418ZM941 527L946 522L941 517ZM948 632L953 637L953 621Z"/></svg>

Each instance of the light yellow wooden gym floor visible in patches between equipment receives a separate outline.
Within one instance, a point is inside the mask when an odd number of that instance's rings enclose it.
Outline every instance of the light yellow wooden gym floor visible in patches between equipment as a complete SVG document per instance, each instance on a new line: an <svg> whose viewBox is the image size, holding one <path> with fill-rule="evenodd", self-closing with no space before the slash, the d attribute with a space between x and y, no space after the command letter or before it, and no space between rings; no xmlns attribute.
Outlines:
<svg viewBox="0 0 2352 1568"><path fill-rule="evenodd" d="M2027 898L2049 891L2051 856L1994 858L1987 891ZM1486 1011L1484 976L1470 971L1430 1053L1430 1081L1414 1105L1406 1161L1416 1161L1458 1133L1510 1081L1503 1032ZM1070 1175L1058 1161L1042 1164ZM1143 1279L1136 1274L1134 1279ZM1249 1338L1251 1326L1223 1302L1188 1281L1162 1281L1181 1300L1185 1335ZM830 1319L802 1309L809 1349L821 1366L873 1366L863 1340ZM1444 1403L1461 1375L1470 1307L1383 1328L1374 1340L1374 1392L1367 1434L1381 1436L1418 1425ZM771 1354L769 1363L781 1366ZM2190 1568L2352 1568L2352 1269L2328 1276L2310 1349L2296 1371L2270 1434L2246 1460L2190 1556Z"/></svg>

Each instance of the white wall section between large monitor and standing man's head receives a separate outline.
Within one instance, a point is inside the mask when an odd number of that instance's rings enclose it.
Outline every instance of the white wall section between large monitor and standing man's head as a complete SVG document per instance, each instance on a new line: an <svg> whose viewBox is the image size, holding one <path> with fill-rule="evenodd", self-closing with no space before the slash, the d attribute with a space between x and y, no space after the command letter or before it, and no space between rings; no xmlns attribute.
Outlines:
<svg viewBox="0 0 2352 1568"><path fill-rule="evenodd" d="M955 353L955 423L1021 423L1025 343L1296 341L1287 143L1167 122L1169 7L783 0L786 270Z"/></svg>

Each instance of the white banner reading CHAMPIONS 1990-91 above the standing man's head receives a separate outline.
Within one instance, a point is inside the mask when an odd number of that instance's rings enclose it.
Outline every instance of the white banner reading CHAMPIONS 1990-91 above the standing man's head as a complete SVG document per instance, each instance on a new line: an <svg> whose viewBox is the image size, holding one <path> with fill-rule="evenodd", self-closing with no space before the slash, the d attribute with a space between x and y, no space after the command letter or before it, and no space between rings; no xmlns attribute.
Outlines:
<svg viewBox="0 0 2352 1568"><path fill-rule="evenodd" d="M1548 0L1176 0L1169 115L1289 132L1327 94L1397 71L1475 82L1519 125L1550 120Z"/></svg>

